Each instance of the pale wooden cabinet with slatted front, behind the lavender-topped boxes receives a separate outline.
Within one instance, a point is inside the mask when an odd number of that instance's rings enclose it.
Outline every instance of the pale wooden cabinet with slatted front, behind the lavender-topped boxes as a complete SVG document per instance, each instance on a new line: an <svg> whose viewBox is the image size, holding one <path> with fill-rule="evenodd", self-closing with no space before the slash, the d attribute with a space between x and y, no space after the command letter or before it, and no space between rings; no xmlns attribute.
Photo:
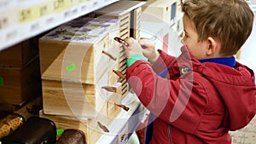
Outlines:
<svg viewBox="0 0 256 144"><path fill-rule="evenodd" d="M110 4L108 7L98 9L93 15L105 19L116 19L119 22L119 37L140 38L142 6L145 2L123 0L119 3ZM125 74L125 51L119 51L119 71ZM122 84L122 95L127 94L129 86L124 78L120 79Z"/></svg>

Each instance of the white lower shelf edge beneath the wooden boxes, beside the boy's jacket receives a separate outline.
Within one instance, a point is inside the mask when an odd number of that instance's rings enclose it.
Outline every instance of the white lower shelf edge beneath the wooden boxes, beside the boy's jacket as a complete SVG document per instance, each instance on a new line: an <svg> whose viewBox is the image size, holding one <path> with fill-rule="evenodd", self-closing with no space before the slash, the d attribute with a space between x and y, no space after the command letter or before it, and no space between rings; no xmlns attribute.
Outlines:
<svg viewBox="0 0 256 144"><path fill-rule="evenodd" d="M125 144L141 123L147 109L138 101L137 95L128 93L122 103L130 107L129 111L119 112L119 115L108 126L110 132L102 135L96 144Z"/></svg>

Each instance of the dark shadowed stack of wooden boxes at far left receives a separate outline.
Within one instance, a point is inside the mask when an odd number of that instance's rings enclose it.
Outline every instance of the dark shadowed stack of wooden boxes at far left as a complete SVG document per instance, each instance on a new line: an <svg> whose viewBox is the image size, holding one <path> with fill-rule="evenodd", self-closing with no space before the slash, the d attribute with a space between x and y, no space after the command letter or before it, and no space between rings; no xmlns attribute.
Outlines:
<svg viewBox="0 0 256 144"><path fill-rule="evenodd" d="M41 95L38 47L34 39L0 52L0 111L16 111Z"/></svg>

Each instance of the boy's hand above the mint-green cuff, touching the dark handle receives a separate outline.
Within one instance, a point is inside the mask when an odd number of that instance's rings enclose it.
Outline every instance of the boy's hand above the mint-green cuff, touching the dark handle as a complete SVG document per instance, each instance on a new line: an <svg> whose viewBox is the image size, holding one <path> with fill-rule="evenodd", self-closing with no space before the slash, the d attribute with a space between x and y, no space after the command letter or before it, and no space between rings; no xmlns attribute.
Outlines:
<svg viewBox="0 0 256 144"><path fill-rule="evenodd" d="M129 44L125 46L126 57L129 58L131 55L143 55L143 49L141 45L132 37L125 39L125 42Z"/></svg>

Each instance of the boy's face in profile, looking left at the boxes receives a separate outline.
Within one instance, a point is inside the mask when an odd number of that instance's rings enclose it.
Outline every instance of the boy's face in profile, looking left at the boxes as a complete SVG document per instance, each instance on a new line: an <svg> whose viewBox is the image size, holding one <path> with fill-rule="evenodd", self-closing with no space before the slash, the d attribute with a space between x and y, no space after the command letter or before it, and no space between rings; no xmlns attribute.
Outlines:
<svg viewBox="0 0 256 144"><path fill-rule="evenodd" d="M207 43L206 41L198 41L198 34L195 30L195 26L186 14L183 16L183 28L184 37L182 43L188 47L190 54L195 56L198 60L206 59Z"/></svg>

